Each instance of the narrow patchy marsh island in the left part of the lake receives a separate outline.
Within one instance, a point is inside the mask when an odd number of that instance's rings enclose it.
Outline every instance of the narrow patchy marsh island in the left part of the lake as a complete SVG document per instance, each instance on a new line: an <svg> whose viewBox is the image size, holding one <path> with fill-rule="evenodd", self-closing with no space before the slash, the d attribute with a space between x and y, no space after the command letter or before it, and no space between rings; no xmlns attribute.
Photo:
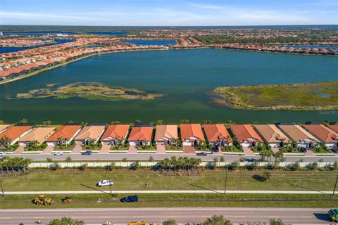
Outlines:
<svg viewBox="0 0 338 225"><path fill-rule="evenodd" d="M77 82L63 86L60 84L49 84L46 88L33 89L27 93L18 93L14 98L54 97L58 99L65 99L79 97L87 100L127 101L152 100L161 96L163 96L163 94L149 94L138 89L111 87L98 82Z"/></svg>

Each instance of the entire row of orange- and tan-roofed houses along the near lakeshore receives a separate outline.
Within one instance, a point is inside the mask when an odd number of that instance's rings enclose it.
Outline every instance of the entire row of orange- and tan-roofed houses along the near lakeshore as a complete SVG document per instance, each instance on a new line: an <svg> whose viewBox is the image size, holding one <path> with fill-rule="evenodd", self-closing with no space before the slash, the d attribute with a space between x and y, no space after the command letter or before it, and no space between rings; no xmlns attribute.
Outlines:
<svg viewBox="0 0 338 225"><path fill-rule="evenodd" d="M329 148L338 144L338 124L325 126L323 124L275 125L275 124L230 124L230 132L224 124L180 124L157 125L136 124L130 129L129 124L89 125L64 124L61 127L34 127L30 124L10 126L0 125L0 141L7 141L13 145L27 146L31 141L47 143L57 146L61 143L69 144L75 141L80 144L96 143L115 146L128 141L130 145L149 145L155 141L158 145L168 145L182 140L183 146L196 146L199 141L208 141L215 146L231 146L234 139L244 147L267 143L272 147L287 146L292 141L297 146L311 148L318 143L324 143ZM6 137L6 138L5 138Z"/></svg>

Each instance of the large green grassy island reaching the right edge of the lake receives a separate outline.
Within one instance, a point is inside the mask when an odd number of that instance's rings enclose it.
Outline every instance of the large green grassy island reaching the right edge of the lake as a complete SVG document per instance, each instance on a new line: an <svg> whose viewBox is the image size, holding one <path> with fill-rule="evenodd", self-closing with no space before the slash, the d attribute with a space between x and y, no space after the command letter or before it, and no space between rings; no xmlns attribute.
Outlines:
<svg viewBox="0 0 338 225"><path fill-rule="evenodd" d="M213 102L244 110L338 110L338 82L223 86Z"/></svg>

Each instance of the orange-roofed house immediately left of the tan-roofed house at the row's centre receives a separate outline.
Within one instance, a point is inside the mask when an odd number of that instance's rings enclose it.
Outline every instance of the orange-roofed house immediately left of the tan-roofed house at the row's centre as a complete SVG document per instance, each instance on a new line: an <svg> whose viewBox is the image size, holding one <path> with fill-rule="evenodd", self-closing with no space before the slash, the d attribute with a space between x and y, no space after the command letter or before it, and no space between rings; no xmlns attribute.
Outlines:
<svg viewBox="0 0 338 225"><path fill-rule="evenodd" d="M132 127L128 142L131 146L150 145L151 136L153 135L153 127Z"/></svg>

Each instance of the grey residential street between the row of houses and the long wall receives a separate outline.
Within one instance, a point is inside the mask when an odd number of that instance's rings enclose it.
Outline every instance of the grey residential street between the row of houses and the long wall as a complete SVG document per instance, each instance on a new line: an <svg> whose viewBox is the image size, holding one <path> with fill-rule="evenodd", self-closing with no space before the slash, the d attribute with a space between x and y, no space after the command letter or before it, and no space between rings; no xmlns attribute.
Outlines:
<svg viewBox="0 0 338 225"><path fill-rule="evenodd" d="M46 160L46 158L51 158L52 160L65 160L68 156L73 160L122 160L123 158L127 158L127 160L149 160L149 157L152 156L154 160L163 160L164 158L171 158L172 156L187 156L190 158L201 158L204 161L212 161L214 158L220 158L222 155L207 155L207 156L197 156L195 154L157 154L157 153L111 153L111 154L97 154L93 153L92 155L81 155L81 154L64 154L60 156L52 155L52 154L8 154L10 157L23 157L30 158L32 160ZM226 162L238 161L241 156L239 155L223 155ZM259 155L252 156L244 156L244 158L252 160L258 160L260 158ZM320 159L323 159L323 162L336 162L338 158L335 156L287 156L287 162L296 162L298 160L303 160L303 162L317 162Z"/></svg>

